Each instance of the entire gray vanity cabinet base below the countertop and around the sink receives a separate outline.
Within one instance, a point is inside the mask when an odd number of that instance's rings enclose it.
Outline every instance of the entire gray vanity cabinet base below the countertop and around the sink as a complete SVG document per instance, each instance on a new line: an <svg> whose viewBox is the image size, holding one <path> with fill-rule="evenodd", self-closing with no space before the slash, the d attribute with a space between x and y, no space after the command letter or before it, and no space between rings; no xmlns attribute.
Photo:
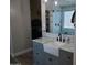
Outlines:
<svg viewBox="0 0 87 65"><path fill-rule="evenodd" d="M34 65L73 65L74 53L59 50L59 56L44 52L42 43L33 42Z"/></svg>

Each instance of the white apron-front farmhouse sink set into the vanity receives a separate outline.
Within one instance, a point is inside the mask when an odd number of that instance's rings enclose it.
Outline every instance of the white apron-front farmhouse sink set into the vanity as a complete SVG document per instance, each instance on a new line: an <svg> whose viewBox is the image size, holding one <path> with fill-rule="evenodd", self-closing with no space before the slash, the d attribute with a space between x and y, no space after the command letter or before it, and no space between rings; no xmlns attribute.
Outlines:
<svg viewBox="0 0 87 65"><path fill-rule="evenodd" d="M50 42L47 44L43 44L44 52L50 53L54 56L58 56L58 50L61 46L63 46L65 43L62 42Z"/></svg>

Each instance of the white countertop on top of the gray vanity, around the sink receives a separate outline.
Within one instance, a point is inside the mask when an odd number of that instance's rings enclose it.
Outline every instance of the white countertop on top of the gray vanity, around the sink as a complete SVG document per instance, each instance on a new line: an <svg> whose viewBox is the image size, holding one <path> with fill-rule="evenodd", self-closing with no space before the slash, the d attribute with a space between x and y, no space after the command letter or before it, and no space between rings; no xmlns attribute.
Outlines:
<svg viewBox="0 0 87 65"><path fill-rule="evenodd" d="M40 39L35 39L33 40L33 42L39 42L39 43L42 43L42 44L47 44L50 46L55 46L55 48L58 47L58 45L61 46L59 48L62 50L65 50L65 51L68 51L68 52L73 52L75 53L76 52L76 44L75 43L61 43L61 42L57 42L55 41L55 39L52 39L52 37L40 37ZM53 44L53 43L58 43L58 44Z"/></svg>

